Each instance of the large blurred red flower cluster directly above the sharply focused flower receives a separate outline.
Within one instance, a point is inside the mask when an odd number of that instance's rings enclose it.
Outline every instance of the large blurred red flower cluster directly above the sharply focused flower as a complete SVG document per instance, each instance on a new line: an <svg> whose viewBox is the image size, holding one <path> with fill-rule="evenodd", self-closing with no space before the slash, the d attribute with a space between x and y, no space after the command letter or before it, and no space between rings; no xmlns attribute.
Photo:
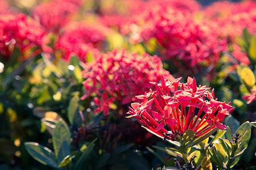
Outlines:
<svg viewBox="0 0 256 170"><path fill-rule="evenodd" d="M200 71L202 63L214 66L221 52L226 50L226 41L218 38L217 24L196 20L187 10L155 6L142 18L145 23L141 26L141 40L154 37L163 47L164 59L172 59L176 65L177 61L182 61L187 67L184 70L189 69L193 74Z"/></svg>

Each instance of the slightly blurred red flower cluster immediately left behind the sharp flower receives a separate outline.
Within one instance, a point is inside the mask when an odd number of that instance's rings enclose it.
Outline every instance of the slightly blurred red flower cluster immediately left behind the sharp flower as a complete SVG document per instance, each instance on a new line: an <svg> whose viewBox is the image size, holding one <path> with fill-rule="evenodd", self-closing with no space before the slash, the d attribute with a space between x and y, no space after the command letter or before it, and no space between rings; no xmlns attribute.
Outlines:
<svg viewBox="0 0 256 170"><path fill-rule="evenodd" d="M135 95L152 87L148 82L159 81L162 74L174 79L163 69L162 62L157 56L139 56L128 53L125 49L101 54L95 62L86 63L83 74L87 94L82 99L93 93L100 96L103 100L101 106L105 107L105 115L108 114L108 108L114 99L118 99L122 104L128 104L135 100ZM100 100L95 101L100 105Z"/></svg>

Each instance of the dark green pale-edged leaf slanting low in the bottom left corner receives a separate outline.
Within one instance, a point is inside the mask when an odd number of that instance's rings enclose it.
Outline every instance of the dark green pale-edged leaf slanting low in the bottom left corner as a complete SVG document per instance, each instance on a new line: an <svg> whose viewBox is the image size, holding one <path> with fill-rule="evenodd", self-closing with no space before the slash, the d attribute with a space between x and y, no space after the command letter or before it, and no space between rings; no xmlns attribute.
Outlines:
<svg viewBox="0 0 256 170"><path fill-rule="evenodd" d="M58 168L58 164L55 160L55 155L51 150L49 150L49 148L35 142L25 142L24 145L28 154L30 154L35 160L44 165Z"/></svg>

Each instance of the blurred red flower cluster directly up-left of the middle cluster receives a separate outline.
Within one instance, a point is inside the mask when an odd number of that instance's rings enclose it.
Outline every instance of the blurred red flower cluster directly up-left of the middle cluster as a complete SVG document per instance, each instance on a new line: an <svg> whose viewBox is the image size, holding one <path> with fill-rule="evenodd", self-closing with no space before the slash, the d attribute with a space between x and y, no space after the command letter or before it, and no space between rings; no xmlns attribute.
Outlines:
<svg viewBox="0 0 256 170"><path fill-rule="evenodd" d="M76 55L81 61L86 62L88 53L97 56L98 49L104 49L104 42L109 32L108 28L98 23L70 23L64 27L64 33L56 42L55 50L60 50L61 57L67 61L72 55Z"/></svg>

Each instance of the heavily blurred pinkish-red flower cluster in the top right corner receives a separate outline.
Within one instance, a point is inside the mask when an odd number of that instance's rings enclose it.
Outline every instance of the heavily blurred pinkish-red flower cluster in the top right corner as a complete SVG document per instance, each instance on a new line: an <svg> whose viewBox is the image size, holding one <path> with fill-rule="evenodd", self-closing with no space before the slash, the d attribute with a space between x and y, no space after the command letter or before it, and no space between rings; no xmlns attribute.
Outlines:
<svg viewBox="0 0 256 170"><path fill-rule="evenodd" d="M256 33L256 2L242 1L216 2L205 8L204 15L215 20L222 30L222 34L231 38L240 36L247 27L251 34Z"/></svg>

